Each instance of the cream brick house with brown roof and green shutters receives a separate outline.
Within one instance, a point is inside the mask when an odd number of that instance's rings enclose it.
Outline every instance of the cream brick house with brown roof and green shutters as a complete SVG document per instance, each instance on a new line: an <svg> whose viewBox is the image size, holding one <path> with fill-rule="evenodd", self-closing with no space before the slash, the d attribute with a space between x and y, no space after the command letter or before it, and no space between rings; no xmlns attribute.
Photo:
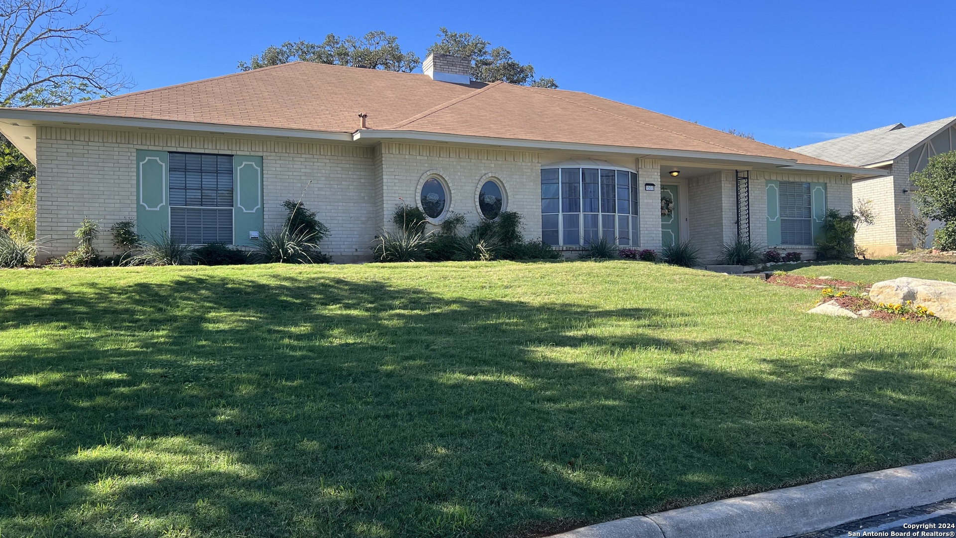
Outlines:
<svg viewBox="0 0 956 538"><path fill-rule="evenodd" d="M812 256L823 213L849 212L853 178L872 174L584 93L471 81L469 65L294 62L2 109L0 131L36 164L36 234L52 256L84 217L250 247L300 196L339 261L369 259L402 203L433 225L515 211L526 236L569 256L603 236L654 250L689 240L709 261L738 235ZM109 252L109 237L97 247Z"/></svg>

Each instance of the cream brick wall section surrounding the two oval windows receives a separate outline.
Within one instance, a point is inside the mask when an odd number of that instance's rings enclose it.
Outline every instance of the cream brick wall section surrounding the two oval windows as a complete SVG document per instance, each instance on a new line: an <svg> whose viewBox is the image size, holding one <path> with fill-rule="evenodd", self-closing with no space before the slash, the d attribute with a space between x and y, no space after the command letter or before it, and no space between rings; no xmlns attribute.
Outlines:
<svg viewBox="0 0 956 538"><path fill-rule="evenodd" d="M467 226L480 220L477 207L479 182L496 177L505 187L506 209L525 215L525 237L541 236L539 153L385 142L380 145L380 161L381 192L377 193L379 209L374 213L380 229L394 228L392 213L402 201L418 205L419 185L423 176L432 172L441 175L448 185L448 211L464 214Z"/></svg>

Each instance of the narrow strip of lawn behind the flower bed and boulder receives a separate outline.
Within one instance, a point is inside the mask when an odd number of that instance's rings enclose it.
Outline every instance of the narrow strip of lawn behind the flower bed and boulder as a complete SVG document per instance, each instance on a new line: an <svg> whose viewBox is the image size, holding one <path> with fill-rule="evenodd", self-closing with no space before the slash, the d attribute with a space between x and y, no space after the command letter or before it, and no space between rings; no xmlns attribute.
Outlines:
<svg viewBox="0 0 956 538"><path fill-rule="evenodd" d="M863 281L869 284L899 277L956 282L956 263L943 262L867 259L865 261L814 263L809 265L801 263L795 266L774 265L773 269L783 269L794 275L833 277L850 280L851 282Z"/></svg>

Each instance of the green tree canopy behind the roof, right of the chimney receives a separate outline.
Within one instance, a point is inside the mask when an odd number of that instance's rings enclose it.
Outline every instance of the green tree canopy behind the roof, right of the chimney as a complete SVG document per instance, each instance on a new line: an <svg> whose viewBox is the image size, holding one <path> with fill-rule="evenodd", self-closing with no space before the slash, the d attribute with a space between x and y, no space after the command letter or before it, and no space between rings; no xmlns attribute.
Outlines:
<svg viewBox="0 0 956 538"><path fill-rule="evenodd" d="M428 53L465 56L471 58L471 78L483 82L503 80L511 84L557 88L554 78L534 78L534 67L528 63L522 65L511 56L505 47L491 48L491 43L480 35L449 32L439 29L441 41L428 47Z"/></svg>

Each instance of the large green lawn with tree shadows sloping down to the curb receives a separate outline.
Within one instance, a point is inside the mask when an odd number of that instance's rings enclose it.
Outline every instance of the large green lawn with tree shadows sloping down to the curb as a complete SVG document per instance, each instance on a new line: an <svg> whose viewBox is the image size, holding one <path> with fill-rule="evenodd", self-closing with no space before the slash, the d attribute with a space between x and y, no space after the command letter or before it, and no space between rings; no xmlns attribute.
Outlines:
<svg viewBox="0 0 956 538"><path fill-rule="evenodd" d="M0 271L0 534L520 536L956 455L956 325L814 300L627 261Z"/></svg>

